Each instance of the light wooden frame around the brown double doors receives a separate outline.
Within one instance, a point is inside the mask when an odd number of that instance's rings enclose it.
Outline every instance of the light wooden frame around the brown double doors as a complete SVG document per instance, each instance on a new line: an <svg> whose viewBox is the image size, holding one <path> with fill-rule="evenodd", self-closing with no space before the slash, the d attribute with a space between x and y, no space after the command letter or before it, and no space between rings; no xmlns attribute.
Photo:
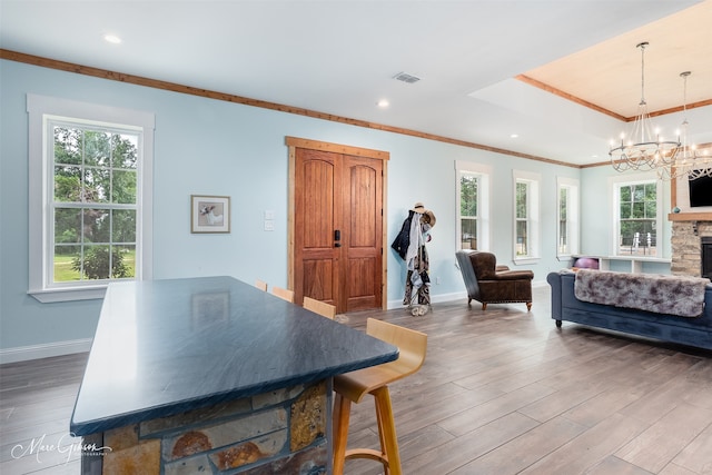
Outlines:
<svg viewBox="0 0 712 475"><path fill-rule="evenodd" d="M386 245L388 236L388 229L386 226L387 200L388 196L388 160L390 159L390 152L383 150L373 150L362 147L353 147L348 145L330 144L320 140L303 139L298 137L285 137L285 142L289 148L289 191L288 191L288 208L287 208L287 286L294 288L295 283L295 184L296 184L296 150L298 148L305 148L309 150L322 150L333 154L350 155L354 157L375 158L383 161L383 186L382 186L382 202L383 212L380 215L382 221L382 244ZM383 310L388 309L388 259L386 249L382 250L382 269L380 269L380 307Z"/></svg>

